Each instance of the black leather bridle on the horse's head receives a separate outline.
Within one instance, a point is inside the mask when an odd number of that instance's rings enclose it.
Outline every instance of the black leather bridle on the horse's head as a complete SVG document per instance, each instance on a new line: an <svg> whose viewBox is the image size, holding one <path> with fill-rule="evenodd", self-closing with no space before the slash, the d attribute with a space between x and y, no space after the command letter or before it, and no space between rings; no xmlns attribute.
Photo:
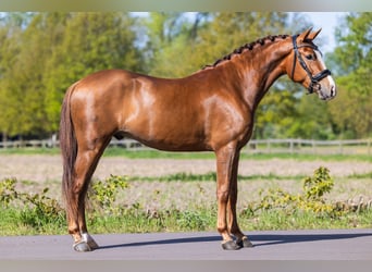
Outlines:
<svg viewBox="0 0 372 272"><path fill-rule="evenodd" d="M331 71L325 69L323 70L322 72L318 73L317 75L312 76L308 65L306 64L306 62L303 61L301 54L299 53L298 51L298 48L301 48L301 47L310 47L317 51L319 51L318 47L314 46L314 45L303 45L303 46L297 46L297 39L298 35L294 35L292 36L292 41L294 44L294 51L295 51L295 57L294 57L294 65L293 65L293 69L292 69L292 76L290 78L294 78L294 75L295 75L295 69L296 69L296 59L298 59L298 62L299 64L301 65L301 67L305 70L305 72L308 74L309 78L310 78L310 85L308 87L308 91L309 94L312 94L314 91L314 86L319 87L320 84L319 82L322 81L324 77L331 75Z"/></svg>

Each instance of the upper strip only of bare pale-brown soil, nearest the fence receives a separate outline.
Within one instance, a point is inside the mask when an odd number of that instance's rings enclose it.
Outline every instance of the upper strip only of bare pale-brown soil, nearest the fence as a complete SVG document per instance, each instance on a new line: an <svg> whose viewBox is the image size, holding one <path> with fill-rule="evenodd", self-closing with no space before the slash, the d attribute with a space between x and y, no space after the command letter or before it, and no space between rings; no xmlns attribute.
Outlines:
<svg viewBox="0 0 372 272"><path fill-rule="evenodd" d="M360 161L296 161L293 159L241 160L239 174L281 176L311 175L319 166L330 169L332 176L345 177L372 171L372 163ZM161 176L177 172L203 174L215 171L214 160L184 159L126 159L102 158L95 177L106 178L110 174L128 176ZM0 156L0 180L16 177L34 182L60 181L62 160L59 156Z"/></svg>

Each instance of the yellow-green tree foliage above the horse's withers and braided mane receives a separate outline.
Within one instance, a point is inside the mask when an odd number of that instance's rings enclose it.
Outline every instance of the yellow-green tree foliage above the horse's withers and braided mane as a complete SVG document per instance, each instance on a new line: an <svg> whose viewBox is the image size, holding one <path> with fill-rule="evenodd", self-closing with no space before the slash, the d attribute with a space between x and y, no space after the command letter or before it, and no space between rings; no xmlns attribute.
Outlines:
<svg viewBox="0 0 372 272"><path fill-rule="evenodd" d="M247 42L286 33L286 13L269 12L151 14L149 30L156 34L150 36L154 52L151 74L186 76Z"/></svg>

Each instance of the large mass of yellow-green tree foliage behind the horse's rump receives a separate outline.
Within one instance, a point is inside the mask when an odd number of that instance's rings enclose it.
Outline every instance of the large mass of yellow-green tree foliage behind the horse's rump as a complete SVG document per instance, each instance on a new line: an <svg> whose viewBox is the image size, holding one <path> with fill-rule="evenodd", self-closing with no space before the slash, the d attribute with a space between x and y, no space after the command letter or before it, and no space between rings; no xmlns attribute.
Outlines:
<svg viewBox="0 0 372 272"><path fill-rule="evenodd" d="M74 82L103 69L146 66L135 46L138 22L128 13L26 17L0 24L1 134L47 137L58 131L62 98Z"/></svg>

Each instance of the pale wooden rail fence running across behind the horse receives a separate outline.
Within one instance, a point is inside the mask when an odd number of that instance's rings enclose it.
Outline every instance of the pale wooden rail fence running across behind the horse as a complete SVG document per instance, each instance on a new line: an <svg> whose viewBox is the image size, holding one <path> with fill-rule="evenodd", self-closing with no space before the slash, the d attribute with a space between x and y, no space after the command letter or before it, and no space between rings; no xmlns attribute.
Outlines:
<svg viewBox="0 0 372 272"><path fill-rule="evenodd" d="M133 139L112 139L110 147L127 150L150 148ZM1 141L4 148L52 148L59 147L58 139ZM372 139L311 140L311 139L252 139L243 149L248 153L313 153L313 154L372 154Z"/></svg>

